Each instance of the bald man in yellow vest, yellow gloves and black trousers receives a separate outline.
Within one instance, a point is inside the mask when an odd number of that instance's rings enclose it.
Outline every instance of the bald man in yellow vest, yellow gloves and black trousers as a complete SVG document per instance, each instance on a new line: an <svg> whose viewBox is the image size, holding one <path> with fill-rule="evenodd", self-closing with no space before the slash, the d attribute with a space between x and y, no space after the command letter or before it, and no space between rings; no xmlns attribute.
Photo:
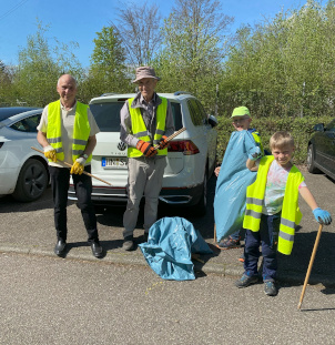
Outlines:
<svg viewBox="0 0 335 345"><path fill-rule="evenodd" d="M91 172L90 162L99 128L90 108L77 101L77 81L73 77L63 74L58 80L57 91L60 100L44 108L38 125L38 141L44 148L44 155L49 160L57 230L54 253L58 256L67 253L67 204L72 174L78 206L92 254L102 257L103 250L99 243L97 217L91 202L92 181L90 176L82 174L83 171ZM73 164L71 171L59 161Z"/></svg>

